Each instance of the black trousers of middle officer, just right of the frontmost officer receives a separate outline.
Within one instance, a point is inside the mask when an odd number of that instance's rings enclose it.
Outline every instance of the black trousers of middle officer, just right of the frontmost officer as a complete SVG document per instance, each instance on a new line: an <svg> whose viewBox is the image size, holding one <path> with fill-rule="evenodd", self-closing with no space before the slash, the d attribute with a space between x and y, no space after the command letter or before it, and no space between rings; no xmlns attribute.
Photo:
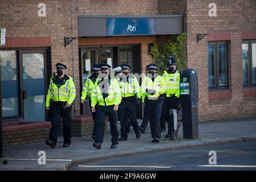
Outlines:
<svg viewBox="0 0 256 182"><path fill-rule="evenodd" d="M123 98L121 104L118 107L119 112L119 121L121 125L121 137L127 138L127 129L129 127L128 118L130 119L131 126L135 132L139 132L139 125L137 122L137 115L136 115L136 98L129 97Z"/></svg>

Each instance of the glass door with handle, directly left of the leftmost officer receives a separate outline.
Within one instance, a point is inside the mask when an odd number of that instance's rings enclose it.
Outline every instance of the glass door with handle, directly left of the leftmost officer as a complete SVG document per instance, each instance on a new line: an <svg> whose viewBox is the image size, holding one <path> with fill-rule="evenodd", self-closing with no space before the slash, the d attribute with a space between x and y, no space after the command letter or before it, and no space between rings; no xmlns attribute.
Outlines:
<svg viewBox="0 0 256 182"><path fill-rule="evenodd" d="M46 121L46 51L22 51L21 56L24 121Z"/></svg>

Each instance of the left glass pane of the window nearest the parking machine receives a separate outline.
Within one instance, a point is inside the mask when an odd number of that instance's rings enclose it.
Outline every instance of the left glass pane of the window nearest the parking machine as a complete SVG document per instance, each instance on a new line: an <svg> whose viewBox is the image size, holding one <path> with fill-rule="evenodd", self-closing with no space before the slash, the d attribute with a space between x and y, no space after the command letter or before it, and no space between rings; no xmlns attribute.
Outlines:
<svg viewBox="0 0 256 182"><path fill-rule="evenodd" d="M215 73L214 73L214 46L208 46L208 82L209 87L215 86Z"/></svg>

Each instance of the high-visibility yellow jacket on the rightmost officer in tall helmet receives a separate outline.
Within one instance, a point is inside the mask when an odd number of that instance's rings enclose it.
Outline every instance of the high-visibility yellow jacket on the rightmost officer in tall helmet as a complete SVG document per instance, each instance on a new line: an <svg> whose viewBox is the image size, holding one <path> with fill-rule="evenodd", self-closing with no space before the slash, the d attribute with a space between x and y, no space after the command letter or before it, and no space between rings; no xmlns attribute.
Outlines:
<svg viewBox="0 0 256 182"><path fill-rule="evenodd" d="M166 81L166 96L171 97L175 94L177 98L180 97L180 73L167 73L164 71L163 78Z"/></svg>

